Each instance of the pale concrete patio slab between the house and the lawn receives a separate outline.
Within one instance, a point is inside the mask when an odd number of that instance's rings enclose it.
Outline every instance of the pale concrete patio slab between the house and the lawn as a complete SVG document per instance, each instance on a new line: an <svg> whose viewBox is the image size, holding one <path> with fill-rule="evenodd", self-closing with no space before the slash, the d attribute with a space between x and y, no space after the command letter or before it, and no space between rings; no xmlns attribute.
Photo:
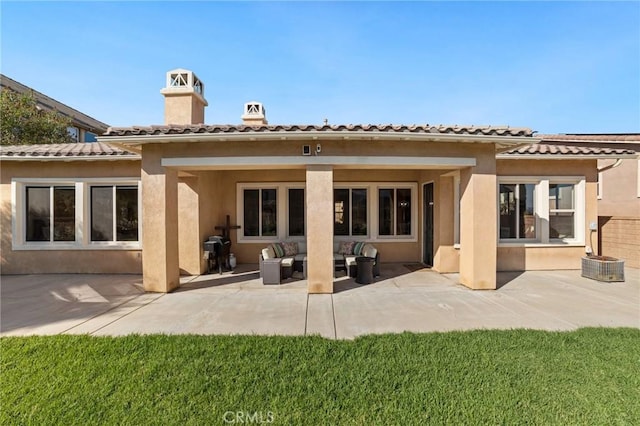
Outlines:
<svg viewBox="0 0 640 426"><path fill-rule="evenodd" d="M265 286L253 265L183 278L171 294L144 293L140 276L1 277L0 335L132 333L311 335L586 326L640 328L640 270L602 283L580 271L500 273L496 291L473 291L416 265L384 264L374 284L348 277L330 295L306 281Z"/></svg>

